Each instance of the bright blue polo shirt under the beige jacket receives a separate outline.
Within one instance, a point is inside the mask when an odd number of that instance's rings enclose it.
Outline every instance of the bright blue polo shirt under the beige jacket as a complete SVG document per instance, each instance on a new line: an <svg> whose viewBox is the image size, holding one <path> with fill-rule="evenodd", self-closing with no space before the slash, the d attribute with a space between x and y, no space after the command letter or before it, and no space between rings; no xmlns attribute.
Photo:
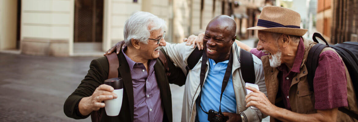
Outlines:
<svg viewBox="0 0 358 122"><path fill-rule="evenodd" d="M200 103L205 112L211 109L219 112L221 86L228 62L229 60L226 60L216 64L214 60L209 59L209 72L202 88ZM196 100L197 116L195 121L208 122L208 115L201 110L198 100L199 97ZM221 111L236 113L236 97L232 85L232 75L230 75L221 99Z"/></svg>

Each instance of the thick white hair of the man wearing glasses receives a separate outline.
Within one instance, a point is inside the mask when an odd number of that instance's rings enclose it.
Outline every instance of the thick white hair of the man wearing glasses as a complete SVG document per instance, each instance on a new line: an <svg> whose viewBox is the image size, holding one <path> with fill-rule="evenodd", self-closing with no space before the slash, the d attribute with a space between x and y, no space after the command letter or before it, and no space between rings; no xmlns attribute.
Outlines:
<svg viewBox="0 0 358 122"><path fill-rule="evenodd" d="M124 41L126 45L132 45L131 40L139 40L139 42L148 44L150 32L154 30L165 30L165 21L158 16L149 12L135 12L125 22Z"/></svg>

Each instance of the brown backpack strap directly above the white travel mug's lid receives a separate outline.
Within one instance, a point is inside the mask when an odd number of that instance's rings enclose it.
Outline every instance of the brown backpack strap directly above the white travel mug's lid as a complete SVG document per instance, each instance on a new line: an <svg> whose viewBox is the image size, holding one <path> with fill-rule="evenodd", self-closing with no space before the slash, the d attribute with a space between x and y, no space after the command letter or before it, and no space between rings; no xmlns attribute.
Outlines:
<svg viewBox="0 0 358 122"><path fill-rule="evenodd" d="M111 53L109 55L106 55L108 60L108 79L109 78L116 78L118 77L118 67L119 67L119 61L116 53Z"/></svg>

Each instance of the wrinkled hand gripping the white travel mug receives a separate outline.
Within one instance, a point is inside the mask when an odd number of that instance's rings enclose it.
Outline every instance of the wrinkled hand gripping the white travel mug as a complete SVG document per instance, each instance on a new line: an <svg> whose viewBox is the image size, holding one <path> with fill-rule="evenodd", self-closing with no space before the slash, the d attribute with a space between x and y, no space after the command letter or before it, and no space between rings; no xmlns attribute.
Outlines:
<svg viewBox="0 0 358 122"><path fill-rule="evenodd" d="M102 101L117 98L117 95L116 93L113 93L113 90L114 88L112 86L105 84L98 86L91 96L84 97L79 102L79 112L82 115L88 115L92 111L97 111L100 108L105 107L105 103L102 103Z"/></svg>

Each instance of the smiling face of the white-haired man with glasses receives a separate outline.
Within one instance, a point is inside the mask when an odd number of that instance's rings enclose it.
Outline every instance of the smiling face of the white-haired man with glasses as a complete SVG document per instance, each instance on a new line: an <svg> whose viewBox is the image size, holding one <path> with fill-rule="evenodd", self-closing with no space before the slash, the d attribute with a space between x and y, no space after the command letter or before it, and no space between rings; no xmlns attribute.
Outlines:
<svg viewBox="0 0 358 122"><path fill-rule="evenodd" d="M154 30L150 33L150 37L149 39L160 39L164 34L164 31L159 29L159 30ZM142 55L142 57L144 59L156 59L159 57L159 51L161 49L161 46L165 46L165 40L164 38L161 39L160 43L157 44L156 40L149 40L147 41L148 44L143 44L143 43L139 43L140 49L139 51L141 52L140 54Z"/></svg>

